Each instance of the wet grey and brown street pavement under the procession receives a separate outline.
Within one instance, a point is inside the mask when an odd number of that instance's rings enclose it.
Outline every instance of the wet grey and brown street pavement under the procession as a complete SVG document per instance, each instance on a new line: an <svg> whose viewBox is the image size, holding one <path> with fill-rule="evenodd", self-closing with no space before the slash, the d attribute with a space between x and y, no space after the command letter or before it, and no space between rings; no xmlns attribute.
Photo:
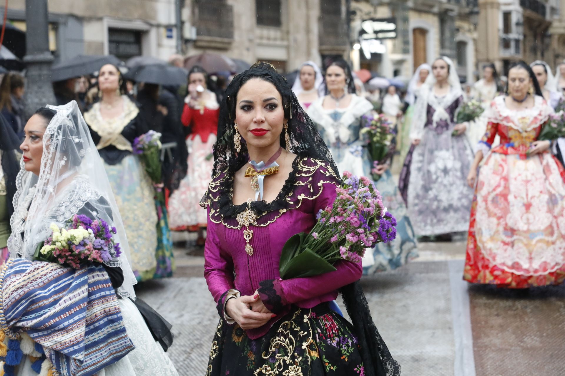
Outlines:
<svg viewBox="0 0 565 376"><path fill-rule="evenodd" d="M420 243L420 258L411 264L362 279L402 375L565 374L565 287L468 286L465 245L464 238ZM175 254L175 277L145 282L137 292L173 324L168 354L179 374L203 376L218 313L202 276L202 249L180 245Z"/></svg>

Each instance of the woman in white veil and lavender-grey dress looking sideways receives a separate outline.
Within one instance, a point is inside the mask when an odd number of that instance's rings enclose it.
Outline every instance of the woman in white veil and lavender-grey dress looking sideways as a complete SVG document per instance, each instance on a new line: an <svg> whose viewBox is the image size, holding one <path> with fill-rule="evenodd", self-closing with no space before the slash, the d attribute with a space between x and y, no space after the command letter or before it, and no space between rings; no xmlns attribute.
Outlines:
<svg viewBox="0 0 565 376"><path fill-rule="evenodd" d="M416 100L412 146L401 171L399 188L417 236L443 236L466 231L472 189L466 178L473 151L456 124L463 91L453 61L438 57Z"/></svg>

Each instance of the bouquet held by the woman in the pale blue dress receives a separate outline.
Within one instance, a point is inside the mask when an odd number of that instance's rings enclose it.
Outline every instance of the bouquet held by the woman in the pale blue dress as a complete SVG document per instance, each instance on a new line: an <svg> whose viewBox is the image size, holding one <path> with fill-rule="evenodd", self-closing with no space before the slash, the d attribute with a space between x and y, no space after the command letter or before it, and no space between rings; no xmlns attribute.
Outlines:
<svg viewBox="0 0 565 376"><path fill-rule="evenodd" d="M364 117L365 126L361 129L362 134L368 135L367 151L372 161L372 178L376 182L381 175L375 172L376 166L385 163L385 157L390 152L392 139L396 132L383 114L377 117Z"/></svg>

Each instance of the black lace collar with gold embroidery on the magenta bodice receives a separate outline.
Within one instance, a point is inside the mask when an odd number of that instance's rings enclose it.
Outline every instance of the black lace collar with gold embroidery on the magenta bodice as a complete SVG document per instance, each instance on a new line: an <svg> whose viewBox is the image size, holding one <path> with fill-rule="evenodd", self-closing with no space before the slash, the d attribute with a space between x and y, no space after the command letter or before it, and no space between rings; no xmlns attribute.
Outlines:
<svg viewBox="0 0 565 376"><path fill-rule="evenodd" d="M257 214L258 218L268 213L280 215L286 210L299 206L303 198L318 196L322 189L318 183L322 181L339 184L336 173L328 166L327 162L309 158L307 154L307 152L303 152L294 158L292 172L290 172L275 200L272 202L264 200L251 202L251 210ZM240 163L234 165L234 167L228 167L210 182L208 191L203 197L202 205L211 206L210 218L214 222L220 222L224 218L236 218L238 214L247 209L247 204L234 205L232 201L234 175L244 165L245 163ZM318 176L315 176L316 174ZM302 188L308 186L311 187L309 190Z"/></svg>

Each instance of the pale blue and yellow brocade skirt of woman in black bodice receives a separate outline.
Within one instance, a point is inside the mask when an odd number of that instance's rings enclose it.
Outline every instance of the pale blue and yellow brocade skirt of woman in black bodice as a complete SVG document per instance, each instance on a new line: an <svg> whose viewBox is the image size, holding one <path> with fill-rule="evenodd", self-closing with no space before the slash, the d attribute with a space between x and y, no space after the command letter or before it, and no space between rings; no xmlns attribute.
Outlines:
<svg viewBox="0 0 565 376"><path fill-rule="evenodd" d="M104 163L104 167L124 222L133 272L136 277L151 274L157 267L158 219L153 184L133 154L117 165Z"/></svg>

